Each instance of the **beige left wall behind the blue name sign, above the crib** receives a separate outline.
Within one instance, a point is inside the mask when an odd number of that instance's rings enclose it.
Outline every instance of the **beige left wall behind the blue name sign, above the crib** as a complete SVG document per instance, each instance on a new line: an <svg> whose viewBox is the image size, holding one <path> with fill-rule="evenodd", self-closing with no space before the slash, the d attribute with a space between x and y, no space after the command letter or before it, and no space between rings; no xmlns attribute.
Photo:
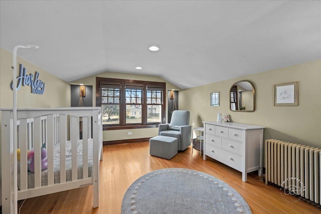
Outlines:
<svg viewBox="0 0 321 214"><path fill-rule="evenodd" d="M18 51L19 55L19 51ZM12 82L13 55L1 48L0 53L0 108L13 107ZM17 64L23 64L27 74L39 72L39 80L45 83L43 95L31 93L30 86L21 86L17 91L17 108L53 108L70 107L70 85L30 62L17 57ZM17 68L17 76L19 67Z"/></svg>

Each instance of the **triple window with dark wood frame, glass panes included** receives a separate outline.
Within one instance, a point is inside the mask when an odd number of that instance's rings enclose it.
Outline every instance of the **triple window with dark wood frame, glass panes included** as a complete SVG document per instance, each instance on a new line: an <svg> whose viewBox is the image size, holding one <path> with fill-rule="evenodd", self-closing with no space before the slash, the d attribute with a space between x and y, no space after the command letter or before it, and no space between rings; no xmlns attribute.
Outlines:
<svg viewBox="0 0 321 214"><path fill-rule="evenodd" d="M166 83L161 82L97 77L96 106L102 107L104 130L164 123L165 90Z"/></svg>

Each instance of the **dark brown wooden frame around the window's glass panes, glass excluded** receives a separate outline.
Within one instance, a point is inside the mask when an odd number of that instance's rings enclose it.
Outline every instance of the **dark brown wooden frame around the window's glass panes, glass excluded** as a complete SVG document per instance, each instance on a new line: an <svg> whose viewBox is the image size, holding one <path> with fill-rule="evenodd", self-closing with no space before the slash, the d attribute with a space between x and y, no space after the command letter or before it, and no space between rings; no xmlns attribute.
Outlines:
<svg viewBox="0 0 321 214"><path fill-rule="evenodd" d="M103 130L115 130L115 129L134 129L134 128L155 128L158 127L158 124L165 123L166 121L166 83L164 82L151 82L151 81L140 81L140 80L125 80L125 79L113 79L113 78L103 78L96 77L96 106L101 107L102 105L102 96L101 96L101 87L100 84L113 84L120 83L120 106L119 106L119 124L103 124ZM139 124L126 124L126 89L125 85L128 84L139 84L143 85L142 90L142 103L141 103L141 123ZM162 104L161 105L161 121L160 122L147 122L147 106L150 105L147 103L147 90L148 85L156 86L159 89L163 88Z"/></svg>

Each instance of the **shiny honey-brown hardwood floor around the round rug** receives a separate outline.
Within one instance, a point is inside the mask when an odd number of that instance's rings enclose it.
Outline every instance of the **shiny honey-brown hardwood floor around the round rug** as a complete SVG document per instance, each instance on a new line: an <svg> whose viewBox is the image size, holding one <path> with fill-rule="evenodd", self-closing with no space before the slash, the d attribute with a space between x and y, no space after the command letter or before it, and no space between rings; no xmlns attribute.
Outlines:
<svg viewBox="0 0 321 214"><path fill-rule="evenodd" d="M256 173L242 174L216 160L203 160L189 147L171 160L149 156L149 144L128 143L103 147L100 162L99 207L92 208L92 186L27 199L21 213L112 213L121 212L122 197L140 176L162 168L189 168L211 174L237 190L253 213L320 213L321 209L298 200L272 185L265 185ZM18 208L22 204L18 202Z"/></svg>

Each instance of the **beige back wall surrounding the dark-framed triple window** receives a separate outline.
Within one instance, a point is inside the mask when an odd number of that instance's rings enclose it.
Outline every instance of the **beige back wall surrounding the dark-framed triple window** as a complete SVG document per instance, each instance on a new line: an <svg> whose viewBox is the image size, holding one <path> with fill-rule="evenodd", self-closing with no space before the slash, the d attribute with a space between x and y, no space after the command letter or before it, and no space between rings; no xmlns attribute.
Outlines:
<svg viewBox="0 0 321 214"><path fill-rule="evenodd" d="M115 79L127 79L127 80L143 80L143 81L153 81L153 82L166 82L166 90L180 90L177 86L172 83L156 76L146 76L137 74L126 74L126 73L115 73L115 72L103 72L97 75L89 76L83 79L75 80L70 82L71 84L85 84L93 86L93 106L96 106L96 77L104 78L115 78ZM168 93L166 93L168 96ZM166 97L167 100L167 97ZM166 104L166 115L168 113L168 108ZM166 118L167 120L167 118ZM128 135L131 132L132 135ZM140 128L140 129L121 129L121 130L108 130L103 131L103 141L112 140L126 140L126 139L138 139L138 138L149 138L158 135L158 128Z"/></svg>

